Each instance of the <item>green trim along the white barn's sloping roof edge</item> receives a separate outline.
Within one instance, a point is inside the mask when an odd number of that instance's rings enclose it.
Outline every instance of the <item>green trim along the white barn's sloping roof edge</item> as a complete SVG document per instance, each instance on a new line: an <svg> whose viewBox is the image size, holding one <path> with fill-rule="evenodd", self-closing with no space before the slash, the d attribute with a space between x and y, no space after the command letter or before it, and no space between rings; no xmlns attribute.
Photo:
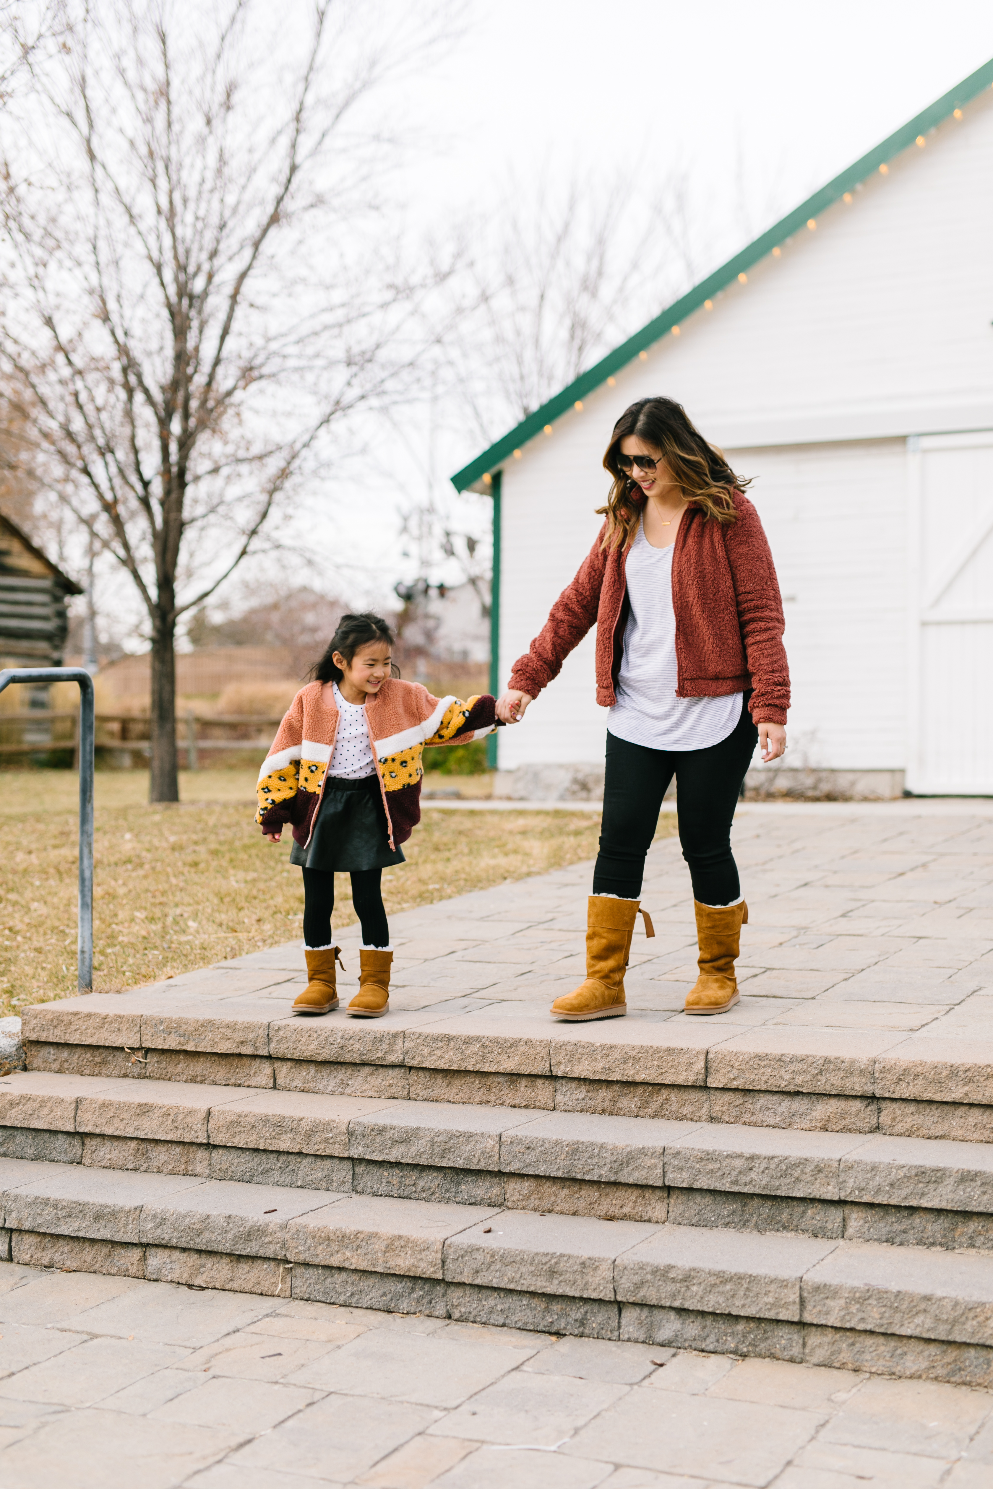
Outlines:
<svg viewBox="0 0 993 1489"><path fill-rule="evenodd" d="M974 73L969 73L956 88L950 92L942 94L935 103L929 104L919 115L910 119L902 128L896 130L893 134L887 135L874 150L868 155L861 156L855 161L846 171L835 176L834 180L816 191L813 197L795 207L794 211L782 217L773 228L764 232L761 237L749 243L746 249L735 253L732 259L722 264L719 270L709 274L707 278L695 284L686 295L674 301L664 310L655 320L649 320L646 326L636 331L633 337L622 341L619 347L609 351L606 357L601 357L594 366L587 372L581 372L579 377L564 387L561 393L555 393L549 398L546 404L542 404L533 414L529 414L517 427L514 427L496 444L484 450L481 456L470 460L467 466L457 471L451 476L451 484L457 491L466 491L473 482L481 476L493 472L499 468L508 456L520 450L529 439L539 435L545 424L554 423L563 414L566 414L573 404L584 399L596 387L604 383L613 372L619 368L627 366L633 362L639 351L645 351L648 347L654 345L657 341L677 326L682 320L691 316L695 310L700 310L706 299L713 299L719 295L722 289L727 289L738 274L747 272L753 268L759 259L764 259L767 253L771 253L774 247L789 238L794 232L804 228L810 217L816 217L819 213L825 211L835 201L840 201L847 191L853 191L859 186L868 176L878 171L880 165L886 165L899 155L902 150L908 149L919 135L926 134L929 130L935 130L939 124L951 116L956 109L969 103L977 94L983 92L984 88L993 85L993 58L984 63L983 67L977 67Z"/></svg>

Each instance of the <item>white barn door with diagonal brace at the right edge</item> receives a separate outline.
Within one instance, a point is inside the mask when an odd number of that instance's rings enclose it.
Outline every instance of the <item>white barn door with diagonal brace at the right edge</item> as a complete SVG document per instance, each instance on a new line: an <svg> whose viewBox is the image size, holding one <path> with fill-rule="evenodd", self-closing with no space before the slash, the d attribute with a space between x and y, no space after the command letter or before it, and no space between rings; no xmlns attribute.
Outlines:
<svg viewBox="0 0 993 1489"><path fill-rule="evenodd" d="M993 430L908 447L907 786L993 795Z"/></svg>

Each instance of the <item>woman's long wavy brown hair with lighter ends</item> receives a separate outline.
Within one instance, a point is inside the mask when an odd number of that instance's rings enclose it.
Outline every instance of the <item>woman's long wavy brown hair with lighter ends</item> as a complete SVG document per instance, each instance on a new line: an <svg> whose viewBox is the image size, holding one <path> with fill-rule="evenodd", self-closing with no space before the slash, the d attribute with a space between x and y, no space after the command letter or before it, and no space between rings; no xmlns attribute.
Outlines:
<svg viewBox="0 0 993 1489"><path fill-rule="evenodd" d="M685 499L700 506L704 518L735 521L731 493L744 490L750 481L735 475L724 453L707 444L682 404L671 398L640 398L618 418L603 457L603 469L613 476L607 505L597 508L597 514L607 520L604 548L628 548L642 521L645 493L618 463L621 441L628 435L636 435L643 444L658 450Z"/></svg>

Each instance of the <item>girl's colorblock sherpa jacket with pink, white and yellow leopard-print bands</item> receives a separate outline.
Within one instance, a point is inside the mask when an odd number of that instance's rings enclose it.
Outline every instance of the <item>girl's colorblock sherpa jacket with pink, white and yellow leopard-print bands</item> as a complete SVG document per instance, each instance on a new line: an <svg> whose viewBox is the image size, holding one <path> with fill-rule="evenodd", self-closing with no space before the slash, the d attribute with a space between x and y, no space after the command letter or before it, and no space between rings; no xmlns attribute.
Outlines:
<svg viewBox="0 0 993 1489"><path fill-rule="evenodd" d="M296 694L280 724L272 749L259 771L259 810L264 832L284 823L307 847L335 752L338 709L325 703L320 682ZM421 750L426 744L469 744L496 728L496 701L435 698L420 682L387 677L365 706L390 847L406 843L421 819Z"/></svg>

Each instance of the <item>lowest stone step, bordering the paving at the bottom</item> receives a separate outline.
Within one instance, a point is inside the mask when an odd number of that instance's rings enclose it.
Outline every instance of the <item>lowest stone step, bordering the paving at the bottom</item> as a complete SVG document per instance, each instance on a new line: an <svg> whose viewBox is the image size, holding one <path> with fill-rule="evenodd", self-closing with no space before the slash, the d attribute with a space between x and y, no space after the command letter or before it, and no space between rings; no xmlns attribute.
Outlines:
<svg viewBox="0 0 993 1489"><path fill-rule="evenodd" d="M15 1263L993 1383L993 1254L0 1158Z"/></svg>

